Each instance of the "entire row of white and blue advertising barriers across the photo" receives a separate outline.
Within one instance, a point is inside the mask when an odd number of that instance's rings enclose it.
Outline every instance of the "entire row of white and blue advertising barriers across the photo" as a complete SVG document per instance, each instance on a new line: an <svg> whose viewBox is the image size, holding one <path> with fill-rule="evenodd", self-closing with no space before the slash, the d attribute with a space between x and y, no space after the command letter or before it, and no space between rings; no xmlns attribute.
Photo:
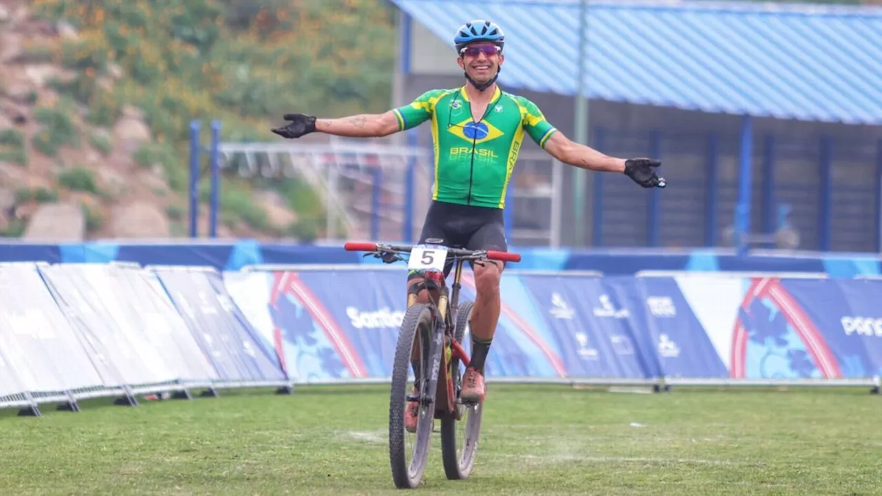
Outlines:
<svg viewBox="0 0 882 496"><path fill-rule="evenodd" d="M0 408L221 387L385 383L403 266L0 264ZM475 299L471 272L460 303ZM882 280L508 269L489 382L871 386ZM470 329L463 345L470 351Z"/></svg>

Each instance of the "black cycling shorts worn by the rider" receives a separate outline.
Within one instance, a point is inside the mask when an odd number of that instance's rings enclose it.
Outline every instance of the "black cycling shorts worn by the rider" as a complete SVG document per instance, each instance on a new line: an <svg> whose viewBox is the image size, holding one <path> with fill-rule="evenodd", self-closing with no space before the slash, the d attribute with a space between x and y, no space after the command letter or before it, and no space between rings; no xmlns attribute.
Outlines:
<svg viewBox="0 0 882 496"><path fill-rule="evenodd" d="M443 244L450 248L508 251L508 243L505 240L505 217L501 208L432 201L429 212L426 213L426 220L422 224L418 243L426 243L430 238L441 240L433 244ZM472 265L471 262L469 264ZM503 266L505 267L505 262ZM445 278L452 268L453 261L448 258L444 267ZM472 268L474 269L474 266ZM420 274L411 271L408 279L419 276Z"/></svg>

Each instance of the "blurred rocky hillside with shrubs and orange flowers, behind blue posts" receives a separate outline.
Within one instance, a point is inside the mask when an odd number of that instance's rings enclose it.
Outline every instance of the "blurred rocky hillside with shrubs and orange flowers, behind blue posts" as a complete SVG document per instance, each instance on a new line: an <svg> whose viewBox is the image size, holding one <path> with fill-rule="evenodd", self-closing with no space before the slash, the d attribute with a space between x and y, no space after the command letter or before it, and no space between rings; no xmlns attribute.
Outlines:
<svg viewBox="0 0 882 496"><path fill-rule="evenodd" d="M385 108L392 20L337 3L0 0L0 235L182 237L192 118L207 144L212 118L223 139L265 140L280 108ZM220 235L320 236L312 196L294 179L230 173Z"/></svg>

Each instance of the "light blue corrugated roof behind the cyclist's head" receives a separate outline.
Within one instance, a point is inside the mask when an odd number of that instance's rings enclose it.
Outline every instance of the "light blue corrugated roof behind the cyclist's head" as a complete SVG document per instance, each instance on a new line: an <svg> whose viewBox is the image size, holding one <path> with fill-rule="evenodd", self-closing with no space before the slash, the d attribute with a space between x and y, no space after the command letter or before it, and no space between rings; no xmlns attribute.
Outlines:
<svg viewBox="0 0 882 496"><path fill-rule="evenodd" d="M451 46L467 20L505 30L501 85L573 95L579 0L392 0ZM678 109L882 124L882 8L590 2L587 95Z"/></svg>

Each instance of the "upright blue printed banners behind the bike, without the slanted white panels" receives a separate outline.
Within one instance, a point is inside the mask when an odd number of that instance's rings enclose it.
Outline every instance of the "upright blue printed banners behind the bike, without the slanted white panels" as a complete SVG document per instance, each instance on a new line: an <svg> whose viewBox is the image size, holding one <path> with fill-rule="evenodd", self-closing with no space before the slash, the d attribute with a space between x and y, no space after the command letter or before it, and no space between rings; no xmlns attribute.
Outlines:
<svg viewBox="0 0 882 496"><path fill-rule="evenodd" d="M882 282L506 270L489 381L860 384L882 374ZM248 267L224 280L297 383L385 380L405 311L392 267ZM474 300L464 273L460 301ZM468 335L468 334L467 334ZM468 337L464 345L470 348Z"/></svg>

